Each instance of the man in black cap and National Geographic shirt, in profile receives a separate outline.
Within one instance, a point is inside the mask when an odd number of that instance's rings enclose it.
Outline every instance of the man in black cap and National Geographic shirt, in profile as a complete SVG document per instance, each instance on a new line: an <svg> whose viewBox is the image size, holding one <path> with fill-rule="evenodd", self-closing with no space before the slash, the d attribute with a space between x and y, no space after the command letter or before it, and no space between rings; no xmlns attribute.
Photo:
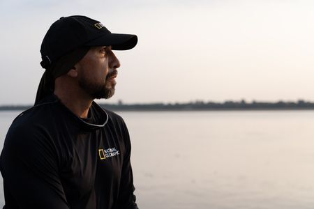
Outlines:
<svg viewBox="0 0 314 209"><path fill-rule="evenodd" d="M126 125L93 101L114 94L112 50L136 44L89 17L50 26L35 105L15 118L1 153L6 209L137 208Z"/></svg>

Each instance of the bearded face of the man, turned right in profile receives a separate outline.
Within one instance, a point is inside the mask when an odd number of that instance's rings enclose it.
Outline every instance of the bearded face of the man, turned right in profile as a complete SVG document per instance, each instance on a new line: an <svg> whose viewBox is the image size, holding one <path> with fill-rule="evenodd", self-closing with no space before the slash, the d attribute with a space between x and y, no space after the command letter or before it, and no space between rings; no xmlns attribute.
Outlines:
<svg viewBox="0 0 314 209"><path fill-rule="evenodd" d="M91 47L75 67L78 84L92 99L107 99L114 95L120 63L111 47Z"/></svg>

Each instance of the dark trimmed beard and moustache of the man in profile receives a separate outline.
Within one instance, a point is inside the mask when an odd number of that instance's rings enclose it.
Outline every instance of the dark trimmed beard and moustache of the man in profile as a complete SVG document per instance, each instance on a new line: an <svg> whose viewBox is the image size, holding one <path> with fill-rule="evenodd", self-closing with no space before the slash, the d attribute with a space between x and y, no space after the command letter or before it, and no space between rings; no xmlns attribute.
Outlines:
<svg viewBox="0 0 314 209"><path fill-rule="evenodd" d="M110 77L117 75L117 70L108 72L105 83L96 84L84 75L79 79L78 83L82 89L93 99L109 99L114 95L116 82L110 81Z"/></svg>

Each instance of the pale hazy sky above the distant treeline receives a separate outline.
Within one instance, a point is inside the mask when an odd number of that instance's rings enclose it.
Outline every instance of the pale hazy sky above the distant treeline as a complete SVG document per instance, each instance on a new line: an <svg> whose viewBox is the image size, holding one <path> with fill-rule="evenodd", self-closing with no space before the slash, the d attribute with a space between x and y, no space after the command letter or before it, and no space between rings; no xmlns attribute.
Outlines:
<svg viewBox="0 0 314 209"><path fill-rule="evenodd" d="M100 102L314 101L314 1L0 0L0 105L33 104L50 25L86 15L137 34Z"/></svg>

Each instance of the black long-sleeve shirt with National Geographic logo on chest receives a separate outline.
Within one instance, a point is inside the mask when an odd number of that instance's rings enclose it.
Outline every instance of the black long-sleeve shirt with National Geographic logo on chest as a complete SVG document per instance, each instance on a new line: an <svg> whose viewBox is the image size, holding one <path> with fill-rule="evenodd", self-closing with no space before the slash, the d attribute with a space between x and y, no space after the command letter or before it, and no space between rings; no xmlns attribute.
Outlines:
<svg viewBox="0 0 314 209"><path fill-rule="evenodd" d="M136 209L123 119L78 118L51 95L15 118L0 158L6 209Z"/></svg>

